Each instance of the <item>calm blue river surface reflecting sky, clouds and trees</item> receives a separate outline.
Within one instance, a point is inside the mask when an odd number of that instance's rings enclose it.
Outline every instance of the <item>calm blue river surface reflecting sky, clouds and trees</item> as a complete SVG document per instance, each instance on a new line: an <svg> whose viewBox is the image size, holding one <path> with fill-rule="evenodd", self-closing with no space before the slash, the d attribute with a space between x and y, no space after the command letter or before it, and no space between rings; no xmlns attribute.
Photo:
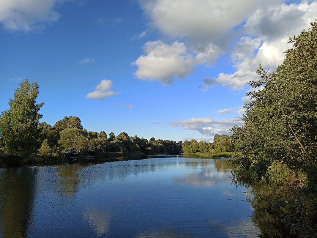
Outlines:
<svg viewBox="0 0 317 238"><path fill-rule="evenodd" d="M228 162L188 157L0 169L0 237L256 237Z"/></svg>

